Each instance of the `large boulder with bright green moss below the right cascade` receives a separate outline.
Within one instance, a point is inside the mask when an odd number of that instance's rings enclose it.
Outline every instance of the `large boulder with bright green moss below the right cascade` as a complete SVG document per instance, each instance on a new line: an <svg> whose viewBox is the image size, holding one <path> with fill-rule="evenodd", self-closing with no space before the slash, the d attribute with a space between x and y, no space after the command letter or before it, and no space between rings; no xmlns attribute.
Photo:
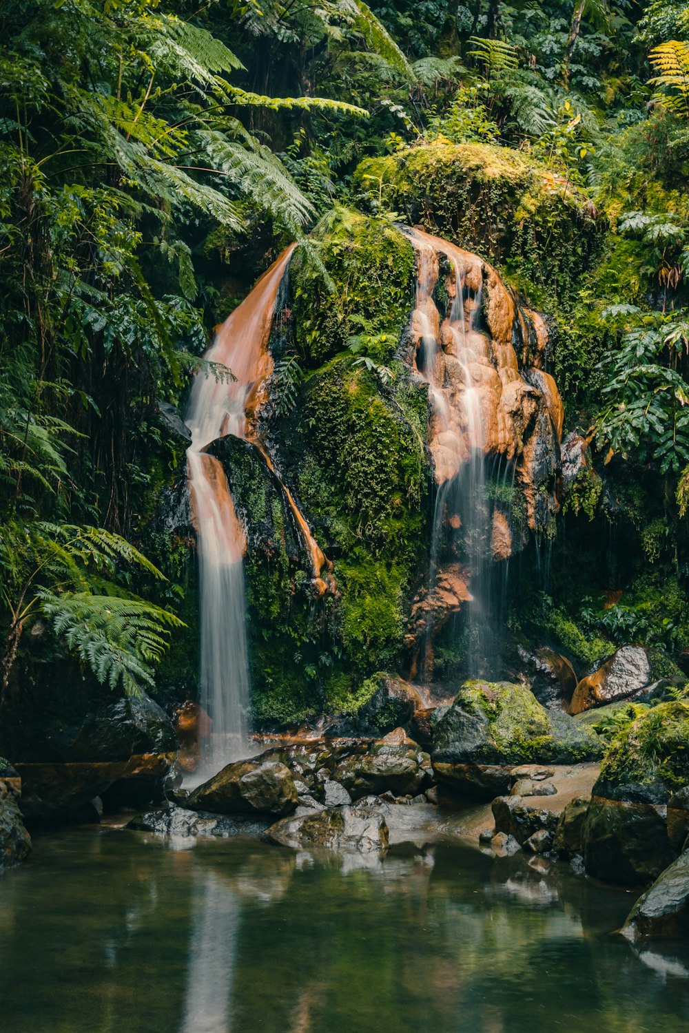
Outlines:
<svg viewBox="0 0 689 1033"><path fill-rule="evenodd" d="M509 682L465 682L433 731L433 759L444 763L576 763L600 753L593 730Z"/></svg>

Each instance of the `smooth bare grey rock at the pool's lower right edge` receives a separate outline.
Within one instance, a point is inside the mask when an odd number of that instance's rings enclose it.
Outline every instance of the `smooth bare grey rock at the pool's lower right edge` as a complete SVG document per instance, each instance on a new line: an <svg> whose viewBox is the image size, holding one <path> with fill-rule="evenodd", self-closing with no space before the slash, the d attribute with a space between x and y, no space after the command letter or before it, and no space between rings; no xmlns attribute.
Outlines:
<svg viewBox="0 0 689 1033"><path fill-rule="evenodd" d="M689 936L689 851L662 872L634 904L622 927L630 940Z"/></svg>

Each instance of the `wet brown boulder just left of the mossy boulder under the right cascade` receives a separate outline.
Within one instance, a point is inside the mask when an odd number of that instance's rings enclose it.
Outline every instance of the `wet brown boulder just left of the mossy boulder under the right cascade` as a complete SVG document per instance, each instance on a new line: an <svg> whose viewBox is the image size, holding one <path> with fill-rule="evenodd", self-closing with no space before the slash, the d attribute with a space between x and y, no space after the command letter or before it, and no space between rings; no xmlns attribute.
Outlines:
<svg viewBox="0 0 689 1033"><path fill-rule="evenodd" d="M430 780L430 757L415 743L392 745L380 740L366 753L342 760L334 770L333 779L347 789L352 800L382 792L415 795Z"/></svg>

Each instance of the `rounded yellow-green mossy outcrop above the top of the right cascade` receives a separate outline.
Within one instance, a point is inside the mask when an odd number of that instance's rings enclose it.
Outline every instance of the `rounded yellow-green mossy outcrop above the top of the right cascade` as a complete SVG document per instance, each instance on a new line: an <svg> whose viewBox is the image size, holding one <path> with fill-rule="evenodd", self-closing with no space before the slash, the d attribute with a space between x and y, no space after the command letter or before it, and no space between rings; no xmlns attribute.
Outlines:
<svg viewBox="0 0 689 1033"><path fill-rule="evenodd" d="M524 285L571 292L599 250L602 226L586 196L530 156L439 139L368 158L354 184L372 207L455 240Z"/></svg>

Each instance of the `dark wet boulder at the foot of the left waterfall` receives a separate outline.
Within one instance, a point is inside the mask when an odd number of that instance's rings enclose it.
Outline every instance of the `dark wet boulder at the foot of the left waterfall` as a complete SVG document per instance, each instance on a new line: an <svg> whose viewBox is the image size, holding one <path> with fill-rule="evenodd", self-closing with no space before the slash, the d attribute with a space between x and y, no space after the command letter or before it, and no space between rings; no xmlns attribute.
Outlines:
<svg viewBox="0 0 689 1033"><path fill-rule="evenodd" d="M240 760L227 764L187 797L187 807L217 814L290 814L297 804L289 769L279 760Z"/></svg>

